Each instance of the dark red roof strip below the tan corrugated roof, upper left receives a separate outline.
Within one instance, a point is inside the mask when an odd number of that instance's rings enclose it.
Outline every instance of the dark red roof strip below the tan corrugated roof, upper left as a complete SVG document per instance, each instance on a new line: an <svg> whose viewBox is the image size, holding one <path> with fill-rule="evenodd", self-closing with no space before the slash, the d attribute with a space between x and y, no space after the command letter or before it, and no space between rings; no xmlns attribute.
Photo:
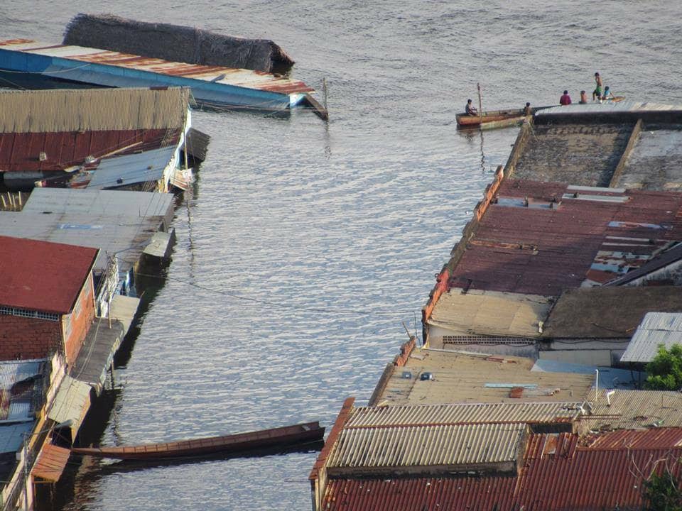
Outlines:
<svg viewBox="0 0 682 511"><path fill-rule="evenodd" d="M60 171L83 165L88 156L124 155L177 144L180 128L0 133L0 172ZM45 159L40 160L40 153ZM88 168L97 167L88 165Z"/></svg>

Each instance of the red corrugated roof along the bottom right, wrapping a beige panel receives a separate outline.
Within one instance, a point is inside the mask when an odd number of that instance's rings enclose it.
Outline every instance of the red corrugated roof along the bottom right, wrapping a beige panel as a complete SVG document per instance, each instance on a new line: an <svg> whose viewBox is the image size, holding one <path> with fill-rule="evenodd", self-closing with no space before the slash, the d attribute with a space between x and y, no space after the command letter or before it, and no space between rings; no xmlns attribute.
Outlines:
<svg viewBox="0 0 682 511"><path fill-rule="evenodd" d="M330 480L325 511L601 511L642 505L651 473L682 476L676 431L607 434L579 446L568 433L531 435L516 478L453 477ZM632 445L617 446L630 437Z"/></svg>

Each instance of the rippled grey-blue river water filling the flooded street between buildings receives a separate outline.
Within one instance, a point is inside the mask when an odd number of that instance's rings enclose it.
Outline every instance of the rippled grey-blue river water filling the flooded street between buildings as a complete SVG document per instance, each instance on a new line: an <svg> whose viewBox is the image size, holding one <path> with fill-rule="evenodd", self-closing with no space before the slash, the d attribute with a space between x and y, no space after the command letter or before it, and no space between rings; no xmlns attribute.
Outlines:
<svg viewBox="0 0 682 511"><path fill-rule="evenodd" d="M462 134L454 113L555 104L605 84L682 104L682 5L641 1L114 0L0 4L2 38L60 42L79 12L271 38L293 76L328 82L330 122L195 112L212 141L164 285L87 432L102 445L319 419L366 404L421 334L433 275L516 129ZM320 97L320 96L318 96ZM416 319L416 321L415 321ZM415 323L417 323L415 325ZM72 459L63 510L308 510L316 453L131 469Z"/></svg>

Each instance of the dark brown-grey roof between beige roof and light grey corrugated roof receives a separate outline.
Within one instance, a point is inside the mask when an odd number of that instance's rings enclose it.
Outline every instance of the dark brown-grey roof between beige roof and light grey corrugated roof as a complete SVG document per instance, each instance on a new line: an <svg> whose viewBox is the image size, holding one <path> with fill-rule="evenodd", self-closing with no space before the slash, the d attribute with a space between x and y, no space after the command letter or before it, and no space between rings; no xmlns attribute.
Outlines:
<svg viewBox="0 0 682 511"><path fill-rule="evenodd" d="M543 336L627 338L651 310L682 312L680 288L626 286L568 290L549 314Z"/></svg>

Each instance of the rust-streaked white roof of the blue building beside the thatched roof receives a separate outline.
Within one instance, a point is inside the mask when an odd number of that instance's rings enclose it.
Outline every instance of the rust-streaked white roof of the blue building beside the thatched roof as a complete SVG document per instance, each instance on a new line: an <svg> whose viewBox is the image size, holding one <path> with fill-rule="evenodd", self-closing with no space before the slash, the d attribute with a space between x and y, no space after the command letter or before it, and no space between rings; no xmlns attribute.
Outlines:
<svg viewBox="0 0 682 511"><path fill-rule="evenodd" d="M234 69L231 67L169 62L168 60L158 58L141 57L139 55L100 50L98 48L50 45L49 43L40 43L35 40L0 41L0 48L72 60L75 64L74 67L78 66L80 62L81 68L86 68L87 62L91 62L93 64L123 67L125 69L151 72L170 77L191 78L202 82L258 89L278 94L293 94L312 90L300 80L291 79L283 75L271 75L265 72ZM49 75L49 72L46 72L46 74ZM55 76L58 77L59 75Z"/></svg>

